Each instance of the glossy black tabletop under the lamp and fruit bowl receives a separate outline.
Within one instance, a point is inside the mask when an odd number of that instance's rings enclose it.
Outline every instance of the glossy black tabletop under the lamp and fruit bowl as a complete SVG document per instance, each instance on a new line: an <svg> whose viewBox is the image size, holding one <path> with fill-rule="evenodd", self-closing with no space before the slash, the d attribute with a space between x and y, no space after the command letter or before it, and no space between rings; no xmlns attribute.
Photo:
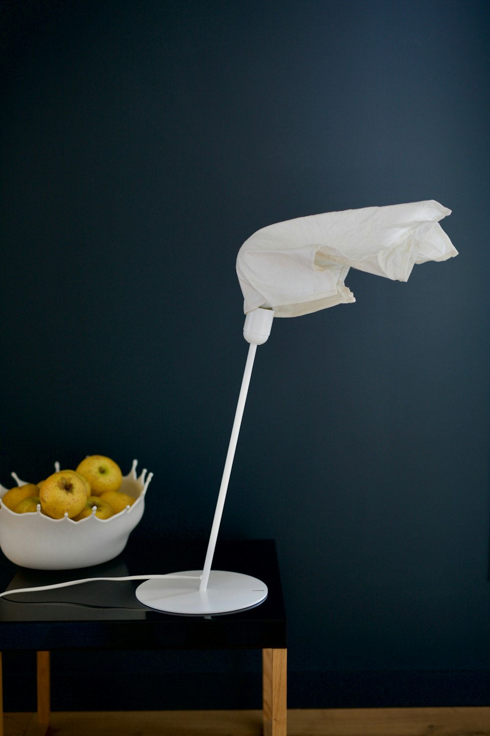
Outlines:
<svg viewBox="0 0 490 736"><path fill-rule="evenodd" d="M199 570L206 545L129 537L126 549L104 565L60 571L16 567L0 553L0 588L16 590L81 578ZM285 648L286 618L274 542L219 541L213 570L259 578L269 589L266 601L232 614L182 616L141 604L135 597L141 581L93 581L22 593L0 598L0 651Z"/></svg>

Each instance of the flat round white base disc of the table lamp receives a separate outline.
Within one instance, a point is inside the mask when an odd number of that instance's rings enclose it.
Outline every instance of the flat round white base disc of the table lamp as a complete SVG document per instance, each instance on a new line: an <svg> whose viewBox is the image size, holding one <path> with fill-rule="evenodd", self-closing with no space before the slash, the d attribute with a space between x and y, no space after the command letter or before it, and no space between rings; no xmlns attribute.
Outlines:
<svg viewBox="0 0 490 736"><path fill-rule="evenodd" d="M249 575L211 570L206 590L199 590L202 570L173 574L190 579L146 580L136 588L138 601L165 613L202 616L253 608L267 598L266 584Z"/></svg>

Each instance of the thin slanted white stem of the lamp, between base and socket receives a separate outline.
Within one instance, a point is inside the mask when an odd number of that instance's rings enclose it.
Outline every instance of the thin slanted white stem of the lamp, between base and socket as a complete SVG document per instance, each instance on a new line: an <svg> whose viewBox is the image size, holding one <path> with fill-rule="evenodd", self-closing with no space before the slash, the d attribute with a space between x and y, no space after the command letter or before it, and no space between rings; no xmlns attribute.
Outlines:
<svg viewBox="0 0 490 736"><path fill-rule="evenodd" d="M202 570L202 581L199 585L199 590L207 589L207 581L209 580L209 573L211 570L211 565L213 563L216 539L218 538L219 525L221 523L221 516L223 514L224 500L227 497L228 483L230 481L233 459L235 458L235 450L236 444L238 442L238 434L240 432L241 420L244 416L246 394L249 391L250 376L252 375L252 367L254 364L256 350L257 345L254 343L250 343L249 353L246 356L244 378L241 381L240 394L238 395L238 404L235 411L235 420L233 422L232 434L230 436L230 445L228 445L227 459L224 463L223 478L221 478L218 502L216 503L216 510L214 512L213 526L211 527L209 542L207 543L205 565L204 569Z"/></svg>

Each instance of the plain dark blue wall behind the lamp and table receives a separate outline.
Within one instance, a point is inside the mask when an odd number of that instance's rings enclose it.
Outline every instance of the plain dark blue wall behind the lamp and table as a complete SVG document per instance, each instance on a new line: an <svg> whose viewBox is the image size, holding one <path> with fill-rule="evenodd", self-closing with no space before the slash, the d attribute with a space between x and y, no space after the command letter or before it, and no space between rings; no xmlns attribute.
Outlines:
<svg viewBox="0 0 490 736"><path fill-rule="evenodd" d="M458 258L406 284L351 272L355 305L274 323L221 535L277 540L291 707L488 704L489 3L0 8L0 482L138 458L134 534L207 537L246 358L241 243L438 199ZM86 669L177 667L132 657ZM182 682L259 666L198 659ZM133 707L202 705L134 687ZM244 690L206 703L257 707Z"/></svg>

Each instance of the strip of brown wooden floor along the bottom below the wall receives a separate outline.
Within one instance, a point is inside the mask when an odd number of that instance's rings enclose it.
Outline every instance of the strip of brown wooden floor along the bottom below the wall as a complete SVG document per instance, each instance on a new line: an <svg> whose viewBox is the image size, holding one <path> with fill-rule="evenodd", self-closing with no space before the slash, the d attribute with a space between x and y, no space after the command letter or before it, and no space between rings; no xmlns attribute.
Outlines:
<svg viewBox="0 0 490 736"><path fill-rule="evenodd" d="M36 717L6 713L5 736ZM259 710L55 712L53 736L260 736ZM288 736L490 736L490 707L288 710Z"/></svg>

